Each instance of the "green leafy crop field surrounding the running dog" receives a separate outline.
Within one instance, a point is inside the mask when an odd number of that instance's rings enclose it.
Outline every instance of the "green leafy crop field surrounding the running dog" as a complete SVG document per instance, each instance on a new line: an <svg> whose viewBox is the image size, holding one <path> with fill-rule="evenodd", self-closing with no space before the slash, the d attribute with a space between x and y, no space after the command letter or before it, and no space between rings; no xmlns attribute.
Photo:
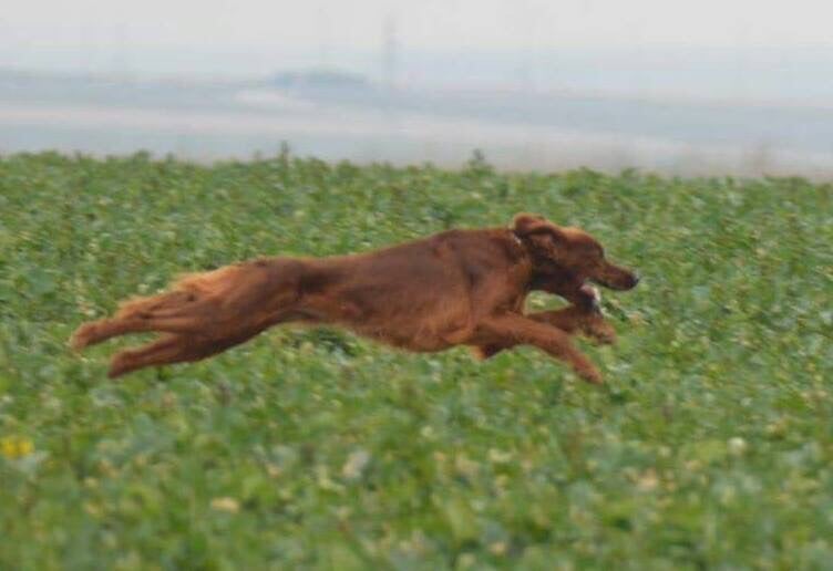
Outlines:
<svg viewBox="0 0 833 571"><path fill-rule="evenodd" d="M68 349L179 272L516 211L642 274L605 386L335 330L119 382L141 338ZM831 245L799 178L6 156L0 569L833 569Z"/></svg>

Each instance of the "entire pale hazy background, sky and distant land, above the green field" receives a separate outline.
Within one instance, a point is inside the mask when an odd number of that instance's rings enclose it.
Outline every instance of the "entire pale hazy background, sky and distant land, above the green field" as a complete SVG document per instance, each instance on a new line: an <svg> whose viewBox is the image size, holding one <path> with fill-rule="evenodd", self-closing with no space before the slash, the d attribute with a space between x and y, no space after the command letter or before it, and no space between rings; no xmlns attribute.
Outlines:
<svg viewBox="0 0 833 571"><path fill-rule="evenodd" d="M4 0L0 155L829 180L831 22L831 0Z"/></svg>

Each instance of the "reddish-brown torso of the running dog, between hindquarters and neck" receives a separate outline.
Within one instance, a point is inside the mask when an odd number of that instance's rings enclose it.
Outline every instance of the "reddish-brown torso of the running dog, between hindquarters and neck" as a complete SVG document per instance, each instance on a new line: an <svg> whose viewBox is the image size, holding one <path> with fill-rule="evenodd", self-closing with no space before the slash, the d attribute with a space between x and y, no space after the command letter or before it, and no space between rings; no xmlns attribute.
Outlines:
<svg viewBox="0 0 833 571"><path fill-rule="evenodd" d="M307 260L301 282L309 287L298 308L316 315L310 321L438 351L471 334L484 304L522 294L520 286L506 292L510 255L493 230L451 230L373 252ZM492 281L500 286L490 288Z"/></svg>

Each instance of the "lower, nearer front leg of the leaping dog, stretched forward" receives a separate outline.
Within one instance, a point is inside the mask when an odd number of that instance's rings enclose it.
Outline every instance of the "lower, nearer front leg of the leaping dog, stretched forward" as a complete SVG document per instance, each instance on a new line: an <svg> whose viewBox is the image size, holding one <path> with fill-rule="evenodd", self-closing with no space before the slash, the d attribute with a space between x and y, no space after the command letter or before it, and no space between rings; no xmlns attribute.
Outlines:
<svg viewBox="0 0 833 571"><path fill-rule="evenodd" d="M477 343L480 347L503 349L518 344L533 345L569 363L585 381L594 384L601 383L601 374L573 345L569 334L548 323L529 319L526 315L505 313L484 320L479 328L479 333L477 336L483 338L483 342Z"/></svg>

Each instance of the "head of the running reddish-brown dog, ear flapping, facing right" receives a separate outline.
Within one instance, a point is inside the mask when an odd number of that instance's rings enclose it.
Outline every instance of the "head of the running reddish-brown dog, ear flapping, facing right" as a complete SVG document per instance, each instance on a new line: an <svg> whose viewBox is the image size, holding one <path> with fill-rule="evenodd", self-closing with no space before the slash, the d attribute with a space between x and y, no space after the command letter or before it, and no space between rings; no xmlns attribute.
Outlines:
<svg viewBox="0 0 833 571"><path fill-rule="evenodd" d="M639 283L635 272L607 261L601 245L579 228L563 228L542 216L520 214L512 230L538 271L566 271L580 281L590 280L614 290L629 290Z"/></svg>

